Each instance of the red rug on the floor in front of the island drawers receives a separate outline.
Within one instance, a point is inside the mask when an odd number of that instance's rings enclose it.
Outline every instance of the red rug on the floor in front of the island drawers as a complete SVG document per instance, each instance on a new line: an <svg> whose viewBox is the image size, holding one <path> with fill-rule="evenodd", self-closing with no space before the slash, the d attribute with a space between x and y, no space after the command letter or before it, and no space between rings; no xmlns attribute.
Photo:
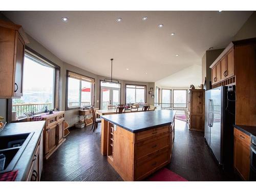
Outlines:
<svg viewBox="0 0 256 192"><path fill-rule="evenodd" d="M148 181L187 181L183 177L171 172L167 168L162 168L152 176L150 176Z"/></svg>

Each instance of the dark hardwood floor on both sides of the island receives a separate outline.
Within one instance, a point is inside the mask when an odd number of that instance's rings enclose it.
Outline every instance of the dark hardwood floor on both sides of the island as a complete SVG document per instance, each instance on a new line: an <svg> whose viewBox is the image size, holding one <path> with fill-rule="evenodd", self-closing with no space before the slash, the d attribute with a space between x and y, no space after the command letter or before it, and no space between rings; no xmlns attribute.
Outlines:
<svg viewBox="0 0 256 192"><path fill-rule="evenodd" d="M175 145L172 161L166 166L188 181L237 180L222 172L209 154L203 133L188 131L185 122L175 121ZM114 168L100 154L100 123L72 129L67 140L44 161L41 181L122 181Z"/></svg>

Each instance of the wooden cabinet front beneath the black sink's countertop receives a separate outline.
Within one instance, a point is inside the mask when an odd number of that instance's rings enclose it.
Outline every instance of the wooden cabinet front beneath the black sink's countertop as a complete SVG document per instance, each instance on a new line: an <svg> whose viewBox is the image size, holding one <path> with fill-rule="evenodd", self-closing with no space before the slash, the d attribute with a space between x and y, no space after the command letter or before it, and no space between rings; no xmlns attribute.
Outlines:
<svg viewBox="0 0 256 192"><path fill-rule="evenodd" d="M42 139L43 133L41 133L40 139L36 145L36 150L30 163L26 181L40 181L42 172Z"/></svg>

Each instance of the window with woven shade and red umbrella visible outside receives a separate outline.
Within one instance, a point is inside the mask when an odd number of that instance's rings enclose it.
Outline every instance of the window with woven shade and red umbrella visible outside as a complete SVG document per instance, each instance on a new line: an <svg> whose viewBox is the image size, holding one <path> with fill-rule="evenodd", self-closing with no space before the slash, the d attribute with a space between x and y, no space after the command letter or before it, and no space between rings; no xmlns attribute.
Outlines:
<svg viewBox="0 0 256 192"><path fill-rule="evenodd" d="M94 81L94 78L67 71L67 110L92 104Z"/></svg>

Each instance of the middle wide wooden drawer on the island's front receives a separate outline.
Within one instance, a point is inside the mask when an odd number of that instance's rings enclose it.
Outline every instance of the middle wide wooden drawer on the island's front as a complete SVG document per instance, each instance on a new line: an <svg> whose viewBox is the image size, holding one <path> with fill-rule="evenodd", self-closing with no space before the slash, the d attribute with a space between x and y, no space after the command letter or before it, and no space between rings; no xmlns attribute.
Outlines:
<svg viewBox="0 0 256 192"><path fill-rule="evenodd" d="M154 153L161 148L164 148L166 146L169 146L170 143L170 135L164 134L160 135L156 138L153 138L151 140L145 140L142 142L137 143L137 150L136 150L136 159L139 159L145 155Z"/></svg>

